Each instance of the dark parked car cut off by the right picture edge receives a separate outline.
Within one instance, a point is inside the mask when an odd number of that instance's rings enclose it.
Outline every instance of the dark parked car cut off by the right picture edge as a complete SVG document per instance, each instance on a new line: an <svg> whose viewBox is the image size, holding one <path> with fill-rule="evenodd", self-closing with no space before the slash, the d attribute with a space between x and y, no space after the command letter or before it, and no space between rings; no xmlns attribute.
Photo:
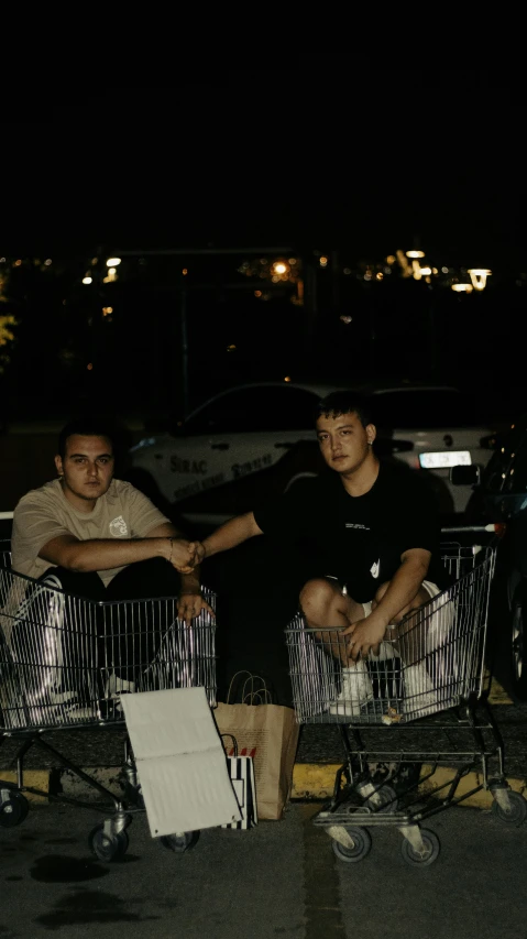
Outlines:
<svg viewBox="0 0 527 939"><path fill-rule="evenodd" d="M513 691L527 699L527 414L496 439L483 470L455 467L452 480L469 474L474 483L466 506L468 524L503 526L498 542L496 583L503 590L510 626Z"/></svg>

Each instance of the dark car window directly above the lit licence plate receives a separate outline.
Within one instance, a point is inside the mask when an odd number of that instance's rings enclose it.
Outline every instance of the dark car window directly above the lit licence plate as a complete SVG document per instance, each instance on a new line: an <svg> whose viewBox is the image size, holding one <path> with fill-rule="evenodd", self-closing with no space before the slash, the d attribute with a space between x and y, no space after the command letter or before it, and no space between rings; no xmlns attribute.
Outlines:
<svg viewBox="0 0 527 939"><path fill-rule="evenodd" d="M486 426L471 395L454 389L400 389L373 395L374 424L402 429Z"/></svg>

